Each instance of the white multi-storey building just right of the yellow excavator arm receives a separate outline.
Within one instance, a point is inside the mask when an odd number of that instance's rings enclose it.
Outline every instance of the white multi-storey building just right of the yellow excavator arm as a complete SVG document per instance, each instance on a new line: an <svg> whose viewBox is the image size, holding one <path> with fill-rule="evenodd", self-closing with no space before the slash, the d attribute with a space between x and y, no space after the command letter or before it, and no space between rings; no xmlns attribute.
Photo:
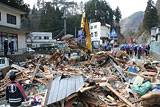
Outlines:
<svg viewBox="0 0 160 107"><path fill-rule="evenodd" d="M107 39L110 39L110 25L93 22L90 23L89 27L92 46L105 44Z"/></svg>

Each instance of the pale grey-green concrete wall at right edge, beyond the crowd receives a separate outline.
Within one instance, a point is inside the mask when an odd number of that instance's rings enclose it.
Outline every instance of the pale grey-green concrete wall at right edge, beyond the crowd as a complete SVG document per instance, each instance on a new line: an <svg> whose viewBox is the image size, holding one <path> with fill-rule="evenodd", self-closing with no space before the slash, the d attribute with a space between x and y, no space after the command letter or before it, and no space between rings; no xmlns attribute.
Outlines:
<svg viewBox="0 0 160 107"><path fill-rule="evenodd" d="M151 42L151 54L156 60L160 60L160 42Z"/></svg>

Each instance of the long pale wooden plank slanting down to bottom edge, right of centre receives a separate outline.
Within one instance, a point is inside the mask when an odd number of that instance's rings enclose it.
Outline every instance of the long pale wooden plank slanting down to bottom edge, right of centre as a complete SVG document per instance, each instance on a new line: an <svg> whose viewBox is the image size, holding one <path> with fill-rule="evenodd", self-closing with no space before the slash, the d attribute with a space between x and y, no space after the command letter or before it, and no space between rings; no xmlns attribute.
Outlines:
<svg viewBox="0 0 160 107"><path fill-rule="evenodd" d="M107 88L109 88L117 97L119 97L121 100L123 100L126 104L128 104L130 107L134 107L134 105L128 101L127 99L125 99L123 96L121 96L119 94L119 92L117 92L114 88L112 88L112 86L109 83L100 83L100 86L106 86Z"/></svg>

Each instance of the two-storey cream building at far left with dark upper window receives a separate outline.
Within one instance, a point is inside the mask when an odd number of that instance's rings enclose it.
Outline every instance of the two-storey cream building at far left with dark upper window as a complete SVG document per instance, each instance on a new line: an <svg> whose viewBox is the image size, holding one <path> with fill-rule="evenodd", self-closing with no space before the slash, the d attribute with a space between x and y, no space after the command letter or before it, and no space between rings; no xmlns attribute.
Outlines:
<svg viewBox="0 0 160 107"><path fill-rule="evenodd" d="M4 40L8 44L14 40L14 51L24 52L26 50L26 32L21 29L21 15L25 12L0 3L0 51L3 52Z"/></svg>

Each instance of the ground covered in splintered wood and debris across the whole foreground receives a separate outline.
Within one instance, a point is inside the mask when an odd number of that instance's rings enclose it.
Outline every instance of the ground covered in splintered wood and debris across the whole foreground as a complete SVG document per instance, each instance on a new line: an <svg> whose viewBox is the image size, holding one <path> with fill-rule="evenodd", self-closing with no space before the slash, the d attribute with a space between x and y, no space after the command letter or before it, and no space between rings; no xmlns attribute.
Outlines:
<svg viewBox="0 0 160 107"><path fill-rule="evenodd" d="M139 60L120 50L114 56L98 52L81 62L59 52L34 56L11 66L0 81L0 97L14 72L29 97L23 106L159 107L159 67L150 56Z"/></svg>

